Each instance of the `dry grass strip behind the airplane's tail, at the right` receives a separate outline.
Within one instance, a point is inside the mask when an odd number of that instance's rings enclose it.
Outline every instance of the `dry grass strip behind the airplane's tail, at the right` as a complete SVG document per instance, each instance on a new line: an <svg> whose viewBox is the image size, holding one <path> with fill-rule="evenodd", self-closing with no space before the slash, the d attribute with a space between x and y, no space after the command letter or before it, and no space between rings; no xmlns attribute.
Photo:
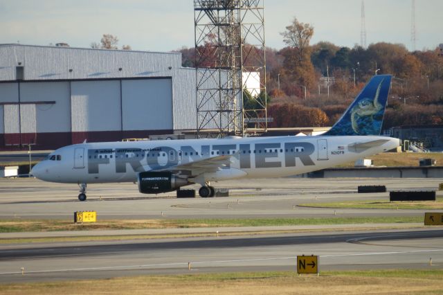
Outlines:
<svg viewBox="0 0 443 295"><path fill-rule="evenodd" d="M382 152L374 156L368 157L368 159L374 160L374 166L419 166L419 159L437 159L437 165L443 165L443 152L431 152L428 154L416 153L416 152ZM340 168L354 167L354 162L345 163L337 166Z"/></svg>

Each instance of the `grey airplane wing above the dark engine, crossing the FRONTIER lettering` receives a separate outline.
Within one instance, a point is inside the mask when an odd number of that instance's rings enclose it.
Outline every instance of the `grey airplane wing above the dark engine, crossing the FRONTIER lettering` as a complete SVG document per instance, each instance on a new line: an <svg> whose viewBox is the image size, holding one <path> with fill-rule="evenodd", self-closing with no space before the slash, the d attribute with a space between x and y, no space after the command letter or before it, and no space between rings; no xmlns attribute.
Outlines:
<svg viewBox="0 0 443 295"><path fill-rule="evenodd" d="M224 168L232 163L233 156L234 154L224 154L221 156L192 161L190 163L185 163L177 166L161 168L155 171L190 171L192 176L200 175L202 173L216 172L217 170Z"/></svg>

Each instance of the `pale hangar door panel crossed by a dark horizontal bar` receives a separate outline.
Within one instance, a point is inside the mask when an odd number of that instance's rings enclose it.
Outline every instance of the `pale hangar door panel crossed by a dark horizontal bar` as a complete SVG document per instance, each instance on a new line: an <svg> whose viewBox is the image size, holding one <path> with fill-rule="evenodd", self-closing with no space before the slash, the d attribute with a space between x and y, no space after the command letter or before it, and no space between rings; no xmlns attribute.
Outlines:
<svg viewBox="0 0 443 295"><path fill-rule="evenodd" d="M35 105L37 132L70 132L69 100L69 82L20 83L21 102L55 101L55 104Z"/></svg>

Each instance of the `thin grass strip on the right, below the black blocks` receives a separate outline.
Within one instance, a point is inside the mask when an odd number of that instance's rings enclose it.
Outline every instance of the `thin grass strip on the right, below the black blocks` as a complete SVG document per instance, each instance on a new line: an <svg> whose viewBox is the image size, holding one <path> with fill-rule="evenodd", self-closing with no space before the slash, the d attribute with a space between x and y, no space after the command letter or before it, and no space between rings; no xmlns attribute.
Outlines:
<svg viewBox="0 0 443 295"><path fill-rule="evenodd" d="M353 209L421 209L421 210L443 210L443 199L437 198L436 202L376 202L376 201L348 201L348 202L332 202L332 203L307 203L300 204L300 207L316 207L316 208L353 208Z"/></svg>

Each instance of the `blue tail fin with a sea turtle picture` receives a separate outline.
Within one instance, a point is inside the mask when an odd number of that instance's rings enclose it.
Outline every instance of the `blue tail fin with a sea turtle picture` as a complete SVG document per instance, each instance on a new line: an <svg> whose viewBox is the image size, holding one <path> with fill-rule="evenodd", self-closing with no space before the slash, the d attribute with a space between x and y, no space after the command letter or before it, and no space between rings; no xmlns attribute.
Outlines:
<svg viewBox="0 0 443 295"><path fill-rule="evenodd" d="M322 135L380 135L392 75L374 75L340 120Z"/></svg>

